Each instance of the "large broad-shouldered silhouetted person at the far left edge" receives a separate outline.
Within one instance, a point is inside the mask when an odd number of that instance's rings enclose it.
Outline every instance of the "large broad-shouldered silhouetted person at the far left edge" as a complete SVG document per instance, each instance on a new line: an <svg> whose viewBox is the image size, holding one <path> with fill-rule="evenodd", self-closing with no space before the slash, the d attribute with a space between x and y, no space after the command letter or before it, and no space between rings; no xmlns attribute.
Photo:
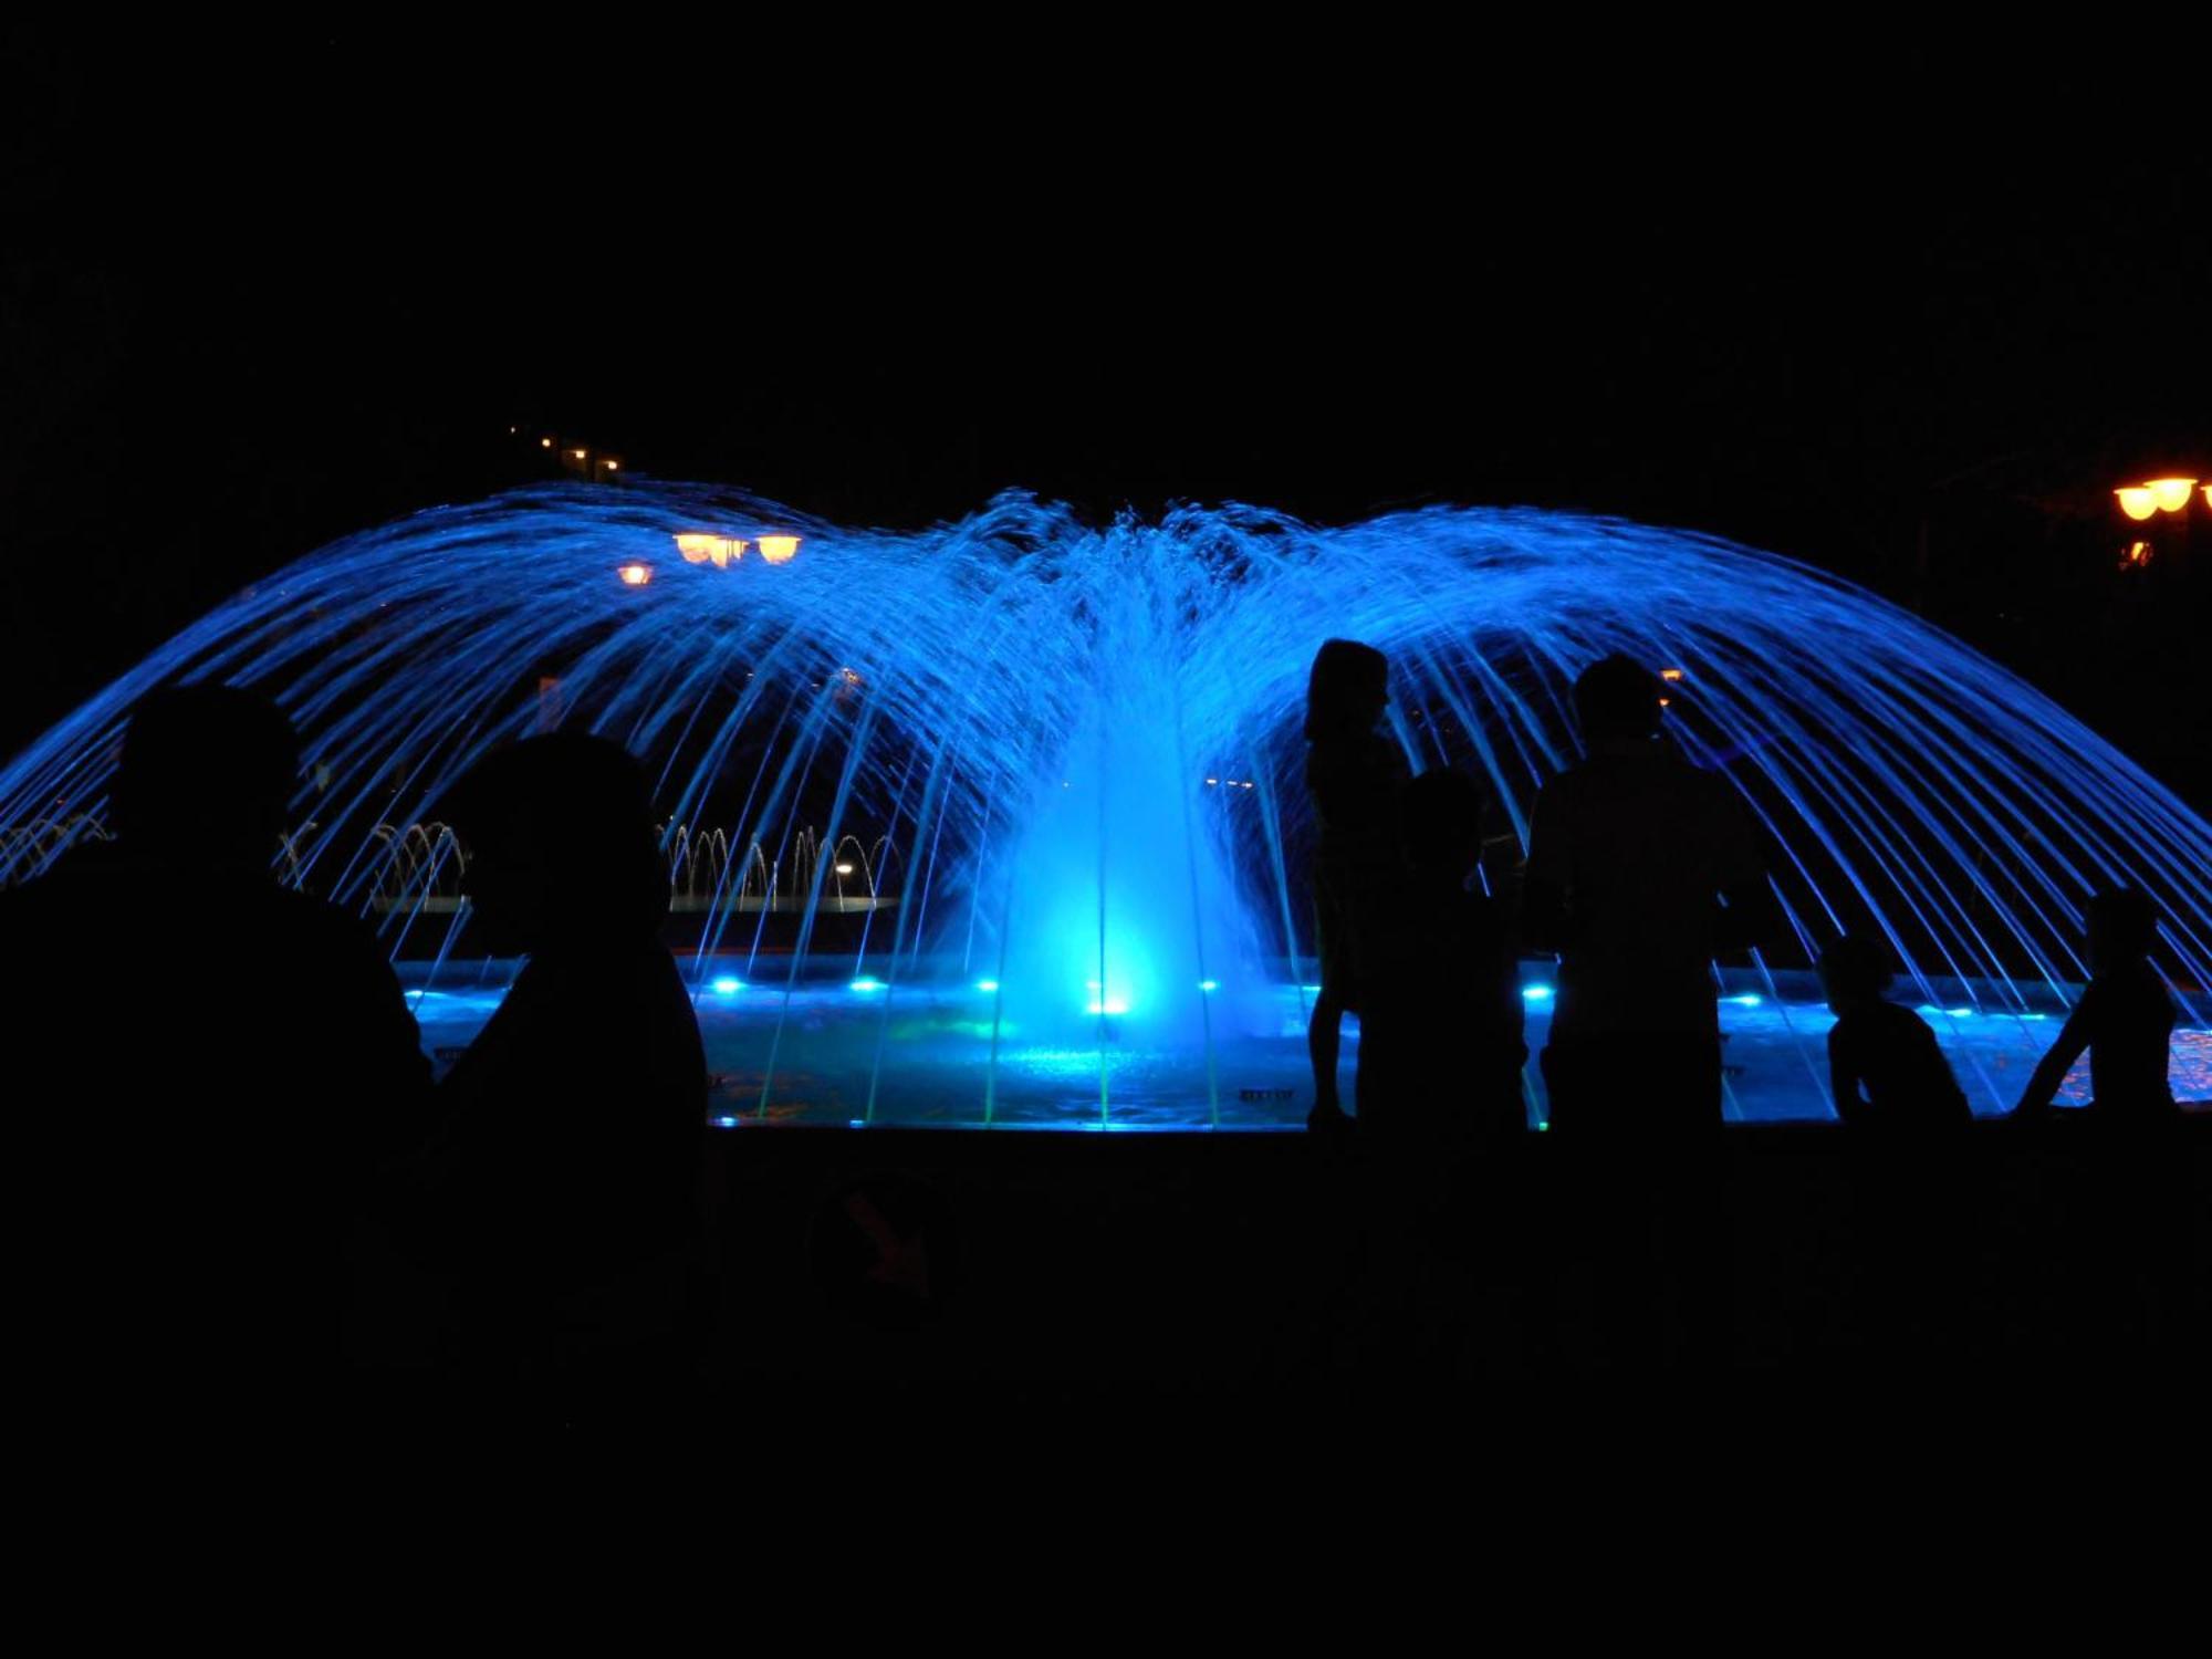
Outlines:
<svg viewBox="0 0 2212 1659"><path fill-rule="evenodd" d="M0 894L31 1296L77 1387L270 1409L336 1358L341 1250L429 1064L374 933L272 874L299 743L259 692L146 697L113 843Z"/></svg>

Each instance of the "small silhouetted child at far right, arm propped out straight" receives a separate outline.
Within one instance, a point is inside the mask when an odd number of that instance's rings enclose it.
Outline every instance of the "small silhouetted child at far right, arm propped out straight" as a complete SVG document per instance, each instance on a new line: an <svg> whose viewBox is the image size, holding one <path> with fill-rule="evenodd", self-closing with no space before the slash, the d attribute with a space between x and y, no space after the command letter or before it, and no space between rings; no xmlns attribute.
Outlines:
<svg viewBox="0 0 2212 1659"><path fill-rule="evenodd" d="M2137 891L2106 891L2088 902L2093 978L2020 1095L2017 1110L2024 1117L2051 1108L2084 1048L2090 1102L2099 1119L2163 1121L2174 1115L2174 1095L2166 1082L2174 1000L2150 967L2157 936L2157 914Z"/></svg>

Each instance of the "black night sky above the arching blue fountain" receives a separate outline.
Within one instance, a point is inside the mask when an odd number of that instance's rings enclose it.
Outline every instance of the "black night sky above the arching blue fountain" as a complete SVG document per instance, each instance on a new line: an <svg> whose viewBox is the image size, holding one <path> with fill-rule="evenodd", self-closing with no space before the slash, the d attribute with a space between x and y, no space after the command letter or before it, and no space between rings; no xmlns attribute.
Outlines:
<svg viewBox="0 0 2212 1659"><path fill-rule="evenodd" d="M1986 58L902 44L11 42L0 750L252 575L531 476L520 420L841 520L1020 484L1712 529L2208 805L2203 538L2157 604L2066 564L2117 542L2110 469L2212 467L2201 137Z"/></svg>

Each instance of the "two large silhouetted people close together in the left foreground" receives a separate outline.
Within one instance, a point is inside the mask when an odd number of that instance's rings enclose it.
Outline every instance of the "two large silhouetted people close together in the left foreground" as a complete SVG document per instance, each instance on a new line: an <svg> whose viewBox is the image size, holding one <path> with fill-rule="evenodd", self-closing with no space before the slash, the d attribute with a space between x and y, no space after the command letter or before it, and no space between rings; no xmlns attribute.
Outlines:
<svg viewBox="0 0 2212 1659"><path fill-rule="evenodd" d="M453 790L489 945L529 960L436 1086L372 929L272 874L296 787L268 699L155 692L115 841L0 894L0 1042L51 1057L15 1113L31 1374L228 1422L327 1409L363 1349L493 1396L664 1374L708 1077L637 763L555 734Z"/></svg>

